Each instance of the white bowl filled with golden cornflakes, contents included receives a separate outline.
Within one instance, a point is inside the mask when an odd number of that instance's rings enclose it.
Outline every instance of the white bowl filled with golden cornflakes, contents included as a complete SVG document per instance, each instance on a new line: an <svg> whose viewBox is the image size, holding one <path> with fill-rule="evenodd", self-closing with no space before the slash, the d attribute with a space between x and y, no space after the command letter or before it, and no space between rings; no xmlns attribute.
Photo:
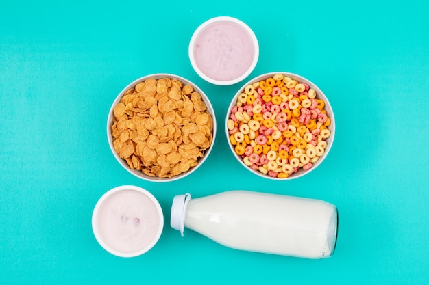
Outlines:
<svg viewBox="0 0 429 285"><path fill-rule="evenodd" d="M174 74L150 74L127 85L110 108L108 142L131 174L152 182L194 172L212 150L215 111L204 92Z"/></svg>

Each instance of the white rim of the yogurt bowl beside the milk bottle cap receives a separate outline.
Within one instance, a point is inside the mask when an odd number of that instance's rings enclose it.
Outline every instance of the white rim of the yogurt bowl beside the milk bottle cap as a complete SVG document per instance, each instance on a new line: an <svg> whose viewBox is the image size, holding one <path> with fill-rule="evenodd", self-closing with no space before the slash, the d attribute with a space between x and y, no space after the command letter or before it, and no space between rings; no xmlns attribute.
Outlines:
<svg viewBox="0 0 429 285"><path fill-rule="evenodd" d="M146 247L143 247L142 249L139 249L136 252L130 252L130 253L118 252L116 249L113 249L112 247L110 247L101 238L101 234L99 233L99 228L97 227L98 214L99 214L99 210L100 210L103 202L105 202L106 199L109 198L114 193L126 191L126 190L138 191L140 193L143 193L143 195L147 196L147 198L149 198L149 200L151 200L151 202L154 203L156 210L158 212L158 215L159 215L159 219L160 219L159 225L158 225L158 230L156 232L156 236L151 241L151 243L149 243ZM158 200L156 200L155 196L152 193L150 193L149 191L147 191L146 189L143 189L141 187L134 186L134 185L121 185L121 186L117 186L117 187L110 189L109 191L104 193L101 196L101 198L99 198L99 200L97 201L97 204L95 204L94 209L93 209L91 226L93 228L93 234L95 236L95 239L97 240L99 245L101 245L101 247L103 247L103 249L105 249L107 252L110 252L110 254L113 254L115 256L120 256L120 257L140 256L140 255L148 252L152 247L154 247L156 245L156 243L158 243L160 236L162 234L162 230L164 229L164 213L162 213L162 208L161 208L161 205L158 202Z"/></svg>

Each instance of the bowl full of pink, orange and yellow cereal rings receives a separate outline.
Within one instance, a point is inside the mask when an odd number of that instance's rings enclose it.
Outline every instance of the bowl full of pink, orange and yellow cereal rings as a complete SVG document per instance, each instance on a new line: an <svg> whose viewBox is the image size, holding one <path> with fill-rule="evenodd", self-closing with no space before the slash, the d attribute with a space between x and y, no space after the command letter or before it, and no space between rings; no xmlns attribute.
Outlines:
<svg viewBox="0 0 429 285"><path fill-rule="evenodd" d="M289 180L308 174L326 158L335 120L319 87L297 74L271 72L238 90L225 129L232 153L249 171Z"/></svg>

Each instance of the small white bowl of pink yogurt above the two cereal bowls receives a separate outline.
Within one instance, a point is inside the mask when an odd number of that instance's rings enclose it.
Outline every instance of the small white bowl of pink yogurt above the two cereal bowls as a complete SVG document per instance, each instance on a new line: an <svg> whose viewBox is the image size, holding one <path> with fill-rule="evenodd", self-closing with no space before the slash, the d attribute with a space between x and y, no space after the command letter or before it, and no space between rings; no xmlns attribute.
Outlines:
<svg viewBox="0 0 429 285"><path fill-rule="evenodd" d="M243 81L255 68L259 44L242 21L221 16L202 23L189 42L189 59L195 72L215 85Z"/></svg>

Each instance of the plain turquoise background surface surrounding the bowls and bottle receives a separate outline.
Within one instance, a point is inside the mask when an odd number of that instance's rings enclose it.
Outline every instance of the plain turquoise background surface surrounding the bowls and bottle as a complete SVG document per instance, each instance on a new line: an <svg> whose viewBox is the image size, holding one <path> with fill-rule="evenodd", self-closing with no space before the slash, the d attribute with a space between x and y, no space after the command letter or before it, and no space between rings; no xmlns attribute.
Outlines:
<svg viewBox="0 0 429 285"><path fill-rule="evenodd" d="M428 284L429 20L406 1L2 1L0 284ZM319 85L336 137L315 171L256 177L228 148L225 113L241 83L215 86L188 61L202 22L234 16L260 43L251 77L294 72ZM191 176L156 184L114 160L106 120L131 81L169 72L212 101L217 140ZM97 200L137 185L166 226L147 254L119 258L95 241ZM174 195L247 189L339 208L336 252L307 260L241 252L169 227Z"/></svg>

